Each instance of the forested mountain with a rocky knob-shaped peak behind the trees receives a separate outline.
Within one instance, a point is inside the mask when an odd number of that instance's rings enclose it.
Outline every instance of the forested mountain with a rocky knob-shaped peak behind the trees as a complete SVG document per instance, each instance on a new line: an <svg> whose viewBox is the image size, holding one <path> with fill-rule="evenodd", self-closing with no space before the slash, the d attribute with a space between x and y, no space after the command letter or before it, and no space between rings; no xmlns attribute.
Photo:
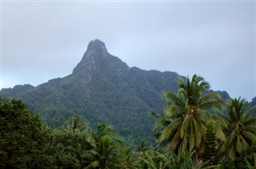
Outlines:
<svg viewBox="0 0 256 169"><path fill-rule="evenodd" d="M1 92L22 99L51 127L60 126L63 115L76 114L93 128L101 123L113 125L122 140L133 144L142 139L152 141L154 119L149 112L162 113L166 104L162 92L177 92L177 77L181 76L173 72L130 68L108 53L102 41L94 40L69 76Z"/></svg>

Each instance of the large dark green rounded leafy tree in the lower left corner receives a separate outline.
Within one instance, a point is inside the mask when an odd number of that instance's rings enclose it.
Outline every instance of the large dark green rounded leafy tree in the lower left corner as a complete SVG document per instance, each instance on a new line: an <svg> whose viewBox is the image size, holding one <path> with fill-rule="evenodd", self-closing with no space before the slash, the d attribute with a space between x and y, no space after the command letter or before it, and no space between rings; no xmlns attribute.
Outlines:
<svg viewBox="0 0 256 169"><path fill-rule="evenodd" d="M22 100L0 103L1 168L50 167L50 138L50 128Z"/></svg>

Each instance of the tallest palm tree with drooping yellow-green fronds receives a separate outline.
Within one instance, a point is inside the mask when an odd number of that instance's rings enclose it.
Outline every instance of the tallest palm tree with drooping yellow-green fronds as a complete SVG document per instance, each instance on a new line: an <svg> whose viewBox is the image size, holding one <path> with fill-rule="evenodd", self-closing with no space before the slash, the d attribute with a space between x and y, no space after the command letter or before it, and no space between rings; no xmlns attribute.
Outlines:
<svg viewBox="0 0 256 169"><path fill-rule="evenodd" d="M167 104L163 115L158 116L158 120L162 122L158 142L167 143L173 152L177 151L182 143L182 156L195 151L194 156L197 159L203 151L202 140L207 121L213 119L216 136L218 139L225 139L220 126L221 122L224 125L222 118L209 112L214 109L222 110L222 100L216 92L206 93L210 85L202 77L194 75L191 81L187 78L186 84L182 78L177 81L177 93L164 92Z"/></svg>

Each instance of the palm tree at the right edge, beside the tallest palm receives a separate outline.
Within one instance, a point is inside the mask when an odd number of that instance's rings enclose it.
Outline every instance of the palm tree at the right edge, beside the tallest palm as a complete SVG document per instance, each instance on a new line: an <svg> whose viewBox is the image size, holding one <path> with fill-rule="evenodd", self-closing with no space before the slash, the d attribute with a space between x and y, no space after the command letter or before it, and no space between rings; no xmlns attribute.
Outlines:
<svg viewBox="0 0 256 169"><path fill-rule="evenodd" d="M227 108L227 114L221 114L228 123L221 153L226 152L229 158L234 159L256 141L256 117L251 117L256 106L249 108L249 104L239 97L227 100Z"/></svg>

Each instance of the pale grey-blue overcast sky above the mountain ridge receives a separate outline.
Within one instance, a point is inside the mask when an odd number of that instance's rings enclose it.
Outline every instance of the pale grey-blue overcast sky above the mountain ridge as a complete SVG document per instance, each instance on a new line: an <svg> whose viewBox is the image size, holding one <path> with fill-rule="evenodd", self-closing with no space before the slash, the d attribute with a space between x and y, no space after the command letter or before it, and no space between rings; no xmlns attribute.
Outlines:
<svg viewBox="0 0 256 169"><path fill-rule="evenodd" d="M255 1L1 2L1 88L72 73L91 40L130 67L256 96Z"/></svg>

